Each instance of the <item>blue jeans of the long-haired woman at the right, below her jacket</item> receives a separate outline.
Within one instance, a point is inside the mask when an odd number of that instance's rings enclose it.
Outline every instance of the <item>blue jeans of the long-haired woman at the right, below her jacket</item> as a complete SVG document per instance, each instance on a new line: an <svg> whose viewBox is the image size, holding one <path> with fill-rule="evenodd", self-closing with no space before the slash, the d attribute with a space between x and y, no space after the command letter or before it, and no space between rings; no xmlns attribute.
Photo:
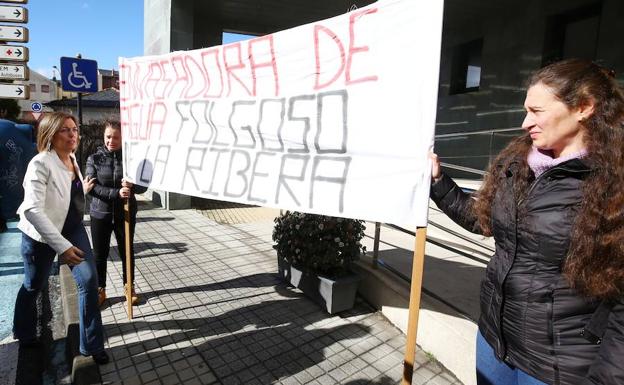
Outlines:
<svg viewBox="0 0 624 385"><path fill-rule="evenodd" d="M477 385L546 385L496 358L494 349L477 333Z"/></svg>

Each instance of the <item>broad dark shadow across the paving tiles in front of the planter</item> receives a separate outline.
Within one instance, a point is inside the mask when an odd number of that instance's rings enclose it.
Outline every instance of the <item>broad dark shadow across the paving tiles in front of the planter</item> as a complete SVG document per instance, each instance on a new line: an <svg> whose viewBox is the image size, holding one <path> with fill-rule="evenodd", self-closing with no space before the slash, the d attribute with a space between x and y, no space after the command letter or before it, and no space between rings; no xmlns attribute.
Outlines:
<svg viewBox="0 0 624 385"><path fill-rule="evenodd" d="M175 366L176 362L199 354L202 362L197 365L207 365L223 384L245 384L253 379L268 384L315 365L329 365L329 370L334 364L327 360L327 355L345 349L339 342L370 333L369 326L328 316L302 294L289 290L280 282L274 274L255 274L209 285L145 293L146 297L153 298L188 291L274 286L281 298L226 312L220 311L219 301L194 306L205 307L201 310L204 314L214 309L214 316L203 318L180 318L188 314L185 309L169 309L167 313L172 319L136 319L130 323L109 325L106 327L109 341L120 340L119 337L125 340L126 332L154 335L153 338L112 347L109 354L112 357L131 355L132 360L144 361L143 371L166 364ZM222 302L242 301L233 298ZM364 304L359 307L364 309L345 312L345 315L351 317L374 312ZM161 315L150 314L145 318L161 318ZM162 335L161 330L171 333ZM159 334L162 336L155 337ZM354 358L348 349L343 352L352 356L345 359Z"/></svg>

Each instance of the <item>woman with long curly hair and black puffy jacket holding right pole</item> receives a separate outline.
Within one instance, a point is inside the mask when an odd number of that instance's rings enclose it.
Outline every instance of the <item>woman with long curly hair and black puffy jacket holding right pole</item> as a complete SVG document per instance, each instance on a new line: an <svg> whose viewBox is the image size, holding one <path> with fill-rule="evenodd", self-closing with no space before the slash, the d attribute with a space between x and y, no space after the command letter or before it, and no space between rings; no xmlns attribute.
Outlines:
<svg viewBox="0 0 624 385"><path fill-rule="evenodd" d="M624 384L624 96L612 71L571 59L530 79L527 131L476 194L435 155L431 196L492 235L481 284L477 382Z"/></svg>

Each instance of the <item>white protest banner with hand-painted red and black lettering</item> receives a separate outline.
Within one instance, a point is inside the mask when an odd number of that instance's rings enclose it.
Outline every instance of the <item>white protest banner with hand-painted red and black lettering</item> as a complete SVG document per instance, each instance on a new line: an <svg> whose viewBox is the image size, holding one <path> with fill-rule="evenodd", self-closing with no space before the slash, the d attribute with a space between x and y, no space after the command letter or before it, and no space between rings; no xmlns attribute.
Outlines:
<svg viewBox="0 0 624 385"><path fill-rule="evenodd" d="M426 225L443 2L386 0L245 42L120 59L127 177Z"/></svg>

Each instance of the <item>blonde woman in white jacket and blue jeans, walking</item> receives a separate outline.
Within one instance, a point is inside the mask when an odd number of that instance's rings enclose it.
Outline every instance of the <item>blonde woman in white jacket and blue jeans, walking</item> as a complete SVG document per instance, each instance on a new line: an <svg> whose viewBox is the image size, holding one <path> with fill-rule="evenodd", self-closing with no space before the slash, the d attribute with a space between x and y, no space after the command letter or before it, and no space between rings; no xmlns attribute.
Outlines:
<svg viewBox="0 0 624 385"><path fill-rule="evenodd" d="M108 362L97 304L97 275L82 223L85 193L93 187L82 175L74 151L76 119L63 112L46 114L37 134L36 155L24 177L24 202L18 209L22 230L24 284L17 294L13 333L22 346L39 344L37 296L47 285L54 256L67 263L78 286L80 353L98 364Z"/></svg>

